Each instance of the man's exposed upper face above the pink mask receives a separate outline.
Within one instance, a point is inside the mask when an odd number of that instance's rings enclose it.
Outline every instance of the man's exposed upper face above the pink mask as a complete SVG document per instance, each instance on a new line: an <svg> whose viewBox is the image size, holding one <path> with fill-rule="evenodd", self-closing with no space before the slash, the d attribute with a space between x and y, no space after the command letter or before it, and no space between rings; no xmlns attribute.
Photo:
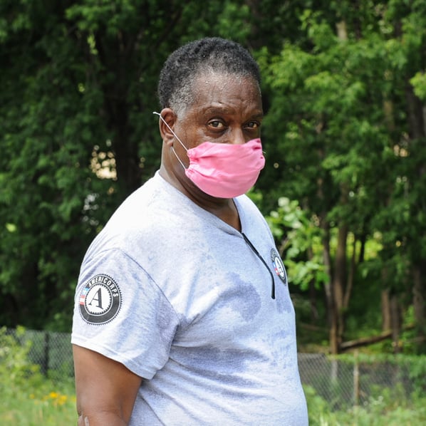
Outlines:
<svg viewBox="0 0 426 426"><path fill-rule="evenodd" d="M174 129L187 149L206 141L242 144L260 137L261 94L252 78L206 73L194 82L194 100ZM183 147L174 146L188 165Z"/></svg>

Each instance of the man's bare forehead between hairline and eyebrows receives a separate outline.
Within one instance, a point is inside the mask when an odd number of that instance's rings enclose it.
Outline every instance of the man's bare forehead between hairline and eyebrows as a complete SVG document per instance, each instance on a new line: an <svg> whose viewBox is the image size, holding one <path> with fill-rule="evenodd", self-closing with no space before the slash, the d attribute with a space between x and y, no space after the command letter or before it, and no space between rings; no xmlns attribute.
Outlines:
<svg viewBox="0 0 426 426"><path fill-rule="evenodd" d="M251 76L206 72L192 85L194 102L189 110L219 108L233 113L257 110L261 113L259 84Z"/></svg>

